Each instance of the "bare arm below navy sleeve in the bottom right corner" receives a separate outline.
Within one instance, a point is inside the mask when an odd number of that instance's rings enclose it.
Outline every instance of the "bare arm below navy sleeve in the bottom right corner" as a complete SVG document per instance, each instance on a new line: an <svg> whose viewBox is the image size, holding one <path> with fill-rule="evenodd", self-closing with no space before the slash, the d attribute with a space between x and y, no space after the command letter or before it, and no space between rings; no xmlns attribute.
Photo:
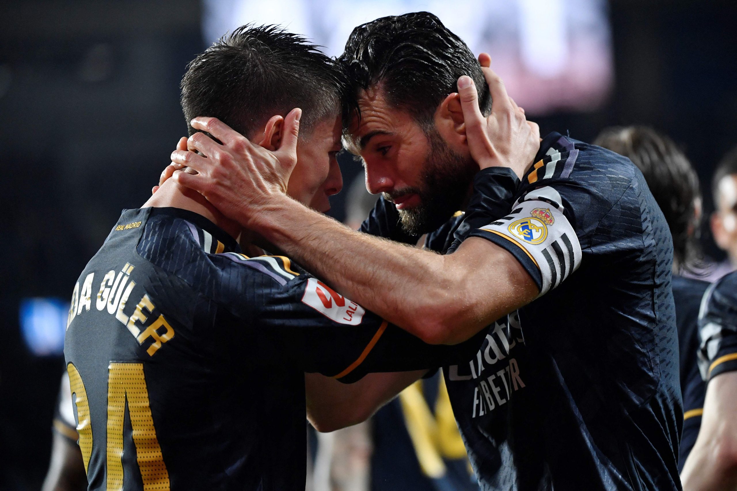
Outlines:
<svg viewBox="0 0 737 491"><path fill-rule="evenodd" d="M709 382L699 437L688 455L684 491L737 490L737 372Z"/></svg>

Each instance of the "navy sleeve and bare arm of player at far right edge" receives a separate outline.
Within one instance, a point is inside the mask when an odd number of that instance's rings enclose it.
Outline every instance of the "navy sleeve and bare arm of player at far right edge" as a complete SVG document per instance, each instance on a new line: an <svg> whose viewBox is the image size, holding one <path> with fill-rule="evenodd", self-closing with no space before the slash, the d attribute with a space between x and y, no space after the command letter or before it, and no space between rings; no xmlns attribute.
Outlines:
<svg viewBox="0 0 737 491"><path fill-rule="evenodd" d="M737 272L709 287L699 313L699 368L706 381L701 431L685 462L683 489L737 489Z"/></svg>

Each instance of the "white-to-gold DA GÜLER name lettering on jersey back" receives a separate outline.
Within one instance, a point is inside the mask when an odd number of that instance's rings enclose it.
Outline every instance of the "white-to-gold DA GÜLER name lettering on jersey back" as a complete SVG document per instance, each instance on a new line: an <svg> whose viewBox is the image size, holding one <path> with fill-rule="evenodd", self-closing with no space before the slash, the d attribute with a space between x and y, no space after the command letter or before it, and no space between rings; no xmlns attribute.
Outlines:
<svg viewBox="0 0 737 491"><path fill-rule="evenodd" d="M156 305L151 302L147 293L143 294L142 299L136 304L136 309L133 310L130 317L124 312L130 294L133 293L133 288L136 287L136 282L130 279L133 269L134 266L126 262L117 274L113 270L108 271L99 285L95 306L97 310L107 310L108 313L114 315L130 331L130 334L136 338L136 341L140 345L143 345L144 341L150 340L150 345L147 347L146 352L149 356L153 356L161 348L161 344L166 343L174 337L174 328L172 328L171 324L161 314L150 326L146 327L144 325L148 320L148 314L156 310ZM67 329L69 329L69 324L71 324L74 317L81 314L85 309L87 311L90 310L93 282L94 273L90 273L85 277L81 293L79 282L74 285L74 292L72 292L69 307L69 317L66 323ZM147 313L145 313L146 311ZM142 329L144 329L143 332L141 332Z"/></svg>

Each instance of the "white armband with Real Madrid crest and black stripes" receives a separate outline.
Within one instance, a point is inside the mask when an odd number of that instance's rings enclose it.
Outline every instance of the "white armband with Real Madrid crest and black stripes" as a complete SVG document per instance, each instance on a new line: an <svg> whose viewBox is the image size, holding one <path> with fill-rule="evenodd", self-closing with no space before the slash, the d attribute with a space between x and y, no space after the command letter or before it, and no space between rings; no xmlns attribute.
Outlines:
<svg viewBox="0 0 737 491"><path fill-rule="evenodd" d="M481 227L525 251L542 276L540 295L556 288L581 265L576 231L556 206L547 201L523 201L510 215Z"/></svg>

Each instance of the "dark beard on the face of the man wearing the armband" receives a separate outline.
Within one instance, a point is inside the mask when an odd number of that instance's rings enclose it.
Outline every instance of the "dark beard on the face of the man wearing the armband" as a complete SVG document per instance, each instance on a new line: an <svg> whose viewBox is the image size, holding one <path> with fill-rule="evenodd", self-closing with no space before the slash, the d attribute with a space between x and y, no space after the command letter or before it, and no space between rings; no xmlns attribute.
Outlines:
<svg viewBox="0 0 737 491"><path fill-rule="evenodd" d="M411 209L397 210L402 229L413 235L430 233L450 220L464 206L473 176L478 172L478 165L453 152L435 128L425 134L430 142L430 155L421 184L402 189L402 195L416 193L420 203ZM383 194L391 201L390 194Z"/></svg>

